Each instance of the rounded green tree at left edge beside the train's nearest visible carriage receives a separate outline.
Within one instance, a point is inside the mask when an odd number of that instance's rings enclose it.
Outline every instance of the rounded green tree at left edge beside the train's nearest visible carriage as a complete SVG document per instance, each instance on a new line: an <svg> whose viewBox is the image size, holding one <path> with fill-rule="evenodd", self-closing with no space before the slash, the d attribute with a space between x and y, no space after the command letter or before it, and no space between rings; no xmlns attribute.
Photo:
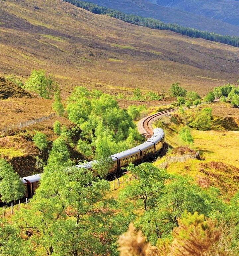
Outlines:
<svg viewBox="0 0 239 256"><path fill-rule="evenodd" d="M25 186L19 175L14 172L13 167L6 160L0 159L0 194L1 201L9 203L22 198L25 193Z"/></svg>

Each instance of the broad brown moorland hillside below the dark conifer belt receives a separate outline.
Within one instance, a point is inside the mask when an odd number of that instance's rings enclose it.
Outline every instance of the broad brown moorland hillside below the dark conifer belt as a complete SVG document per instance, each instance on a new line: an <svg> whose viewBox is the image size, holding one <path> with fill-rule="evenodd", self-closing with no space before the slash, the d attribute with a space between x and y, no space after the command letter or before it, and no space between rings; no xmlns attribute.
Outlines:
<svg viewBox="0 0 239 256"><path fill-rule="evenodd" d="M0 2L0 75L53 73L67 95L85 85L108 92L160 91L180 82L205 94L238 80L238 49L137 27L60 0Z"/></svg>

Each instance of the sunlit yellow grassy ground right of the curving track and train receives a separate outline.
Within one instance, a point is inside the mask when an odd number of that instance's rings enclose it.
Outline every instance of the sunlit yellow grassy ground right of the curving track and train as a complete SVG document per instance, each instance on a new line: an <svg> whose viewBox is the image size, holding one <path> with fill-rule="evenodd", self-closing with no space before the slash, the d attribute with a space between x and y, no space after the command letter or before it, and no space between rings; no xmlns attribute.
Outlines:
<svg viewBox="0 0 239 256"><path fill-rule="evenodd" d="M208 107L203 106L201 108ZM227 116L233 113L233 117L237 118L236 111L229 108L224 103L210 104L213 109L214 120L220 118L221 122L227 122ZM223 110L224 117L219 117L220 111ZM162 125L162 123L164 123ZM155 126L162 125L166 141L173 147L185 145L179 139L179 131L183 127L182 124L175 122L174 118L164 117ZM227 123L224 124L228 126ZM215 126L214 126L215 127ZM222 127L217 127L222 129ZM230 130L208 130L201 131L192 129L194 145L191 146L200 152L200 160L187 160L185 163L171 163L167 166L170 174L189 175L201 187L216 187L220 190L220 195L224 200L230 199L239 189L239 131ZM154 164L158 165L169 155L173 155L172 150L168 154L157 160Z"/></svg>

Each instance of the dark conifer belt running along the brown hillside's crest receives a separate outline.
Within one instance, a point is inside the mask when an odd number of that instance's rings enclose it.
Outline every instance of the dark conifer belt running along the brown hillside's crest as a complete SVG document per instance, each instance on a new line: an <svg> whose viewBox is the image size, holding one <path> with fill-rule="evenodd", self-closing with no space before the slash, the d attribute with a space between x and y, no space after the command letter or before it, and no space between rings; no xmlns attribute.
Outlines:
<svg viewBox="0 0 239 256"><path fill-rule="evenodd" d="M202 38L202 39L217 42L217 43L224 43L231 46L239 47L239 37L223 36L213 32L206 32L206 31L200 31L193 28L183 27L177 24L167 24L157 19L144 18L141 16L133 15L133 14L125 14L121 11L98 6L90 2L79 1L79 0L63 0L63 1L71 3L77 7L83 8L92 13L108 15L113 18L131 23L137 26L147 27L151 29L158 29L158 30L170 30L170 31L179 33L181 35L186 35L192 38Z"/></svg>

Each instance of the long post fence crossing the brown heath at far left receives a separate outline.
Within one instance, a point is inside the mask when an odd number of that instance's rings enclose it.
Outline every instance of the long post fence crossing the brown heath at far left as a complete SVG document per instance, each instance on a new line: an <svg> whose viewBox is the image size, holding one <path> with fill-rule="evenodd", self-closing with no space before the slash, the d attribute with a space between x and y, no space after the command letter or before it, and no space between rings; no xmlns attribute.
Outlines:
<svg viewBox="0 0 239 256"><path fill-rule="evenodd" d="M35 123L43 122L44 120L49 120L49 119L51 119L52 117L55 117L55 116L56 116L56 113L51 113L49 116L43 116L43 117L40 117L40 118L28 120L28 121L25 121L25 122L19 122L19 123L13 124L13 125L5 126L3 129L1 129L1 135L4 136L4 135L7 134L8 131L11 131L11 130L14 130L14 129L20 130L21 128L33 125Z"/></svg>

